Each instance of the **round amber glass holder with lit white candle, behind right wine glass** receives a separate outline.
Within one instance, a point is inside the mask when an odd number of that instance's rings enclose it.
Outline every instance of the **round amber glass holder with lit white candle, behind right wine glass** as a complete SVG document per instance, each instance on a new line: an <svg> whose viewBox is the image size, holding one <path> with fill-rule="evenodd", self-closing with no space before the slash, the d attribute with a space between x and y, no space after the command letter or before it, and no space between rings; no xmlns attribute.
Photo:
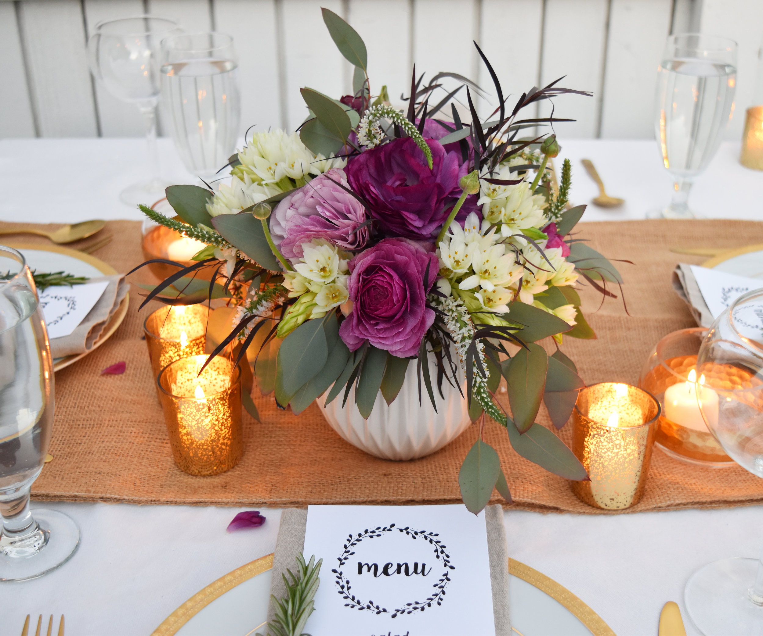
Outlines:
<svg viewBox="0 0 763 636"><path fill-rule="evenodd" d="M713 400L717 403L716 393L703 387L705 378L697 377L696 370L697 353L707 332L706 327L694 327L668 333L649 354L639 387L662 406L655 435L658 448L679 461L720 468L733 466L734 461L707 429L697 400L699 396L710 410ZM723 373L721 368L716 371L713 379Z"/></svg>

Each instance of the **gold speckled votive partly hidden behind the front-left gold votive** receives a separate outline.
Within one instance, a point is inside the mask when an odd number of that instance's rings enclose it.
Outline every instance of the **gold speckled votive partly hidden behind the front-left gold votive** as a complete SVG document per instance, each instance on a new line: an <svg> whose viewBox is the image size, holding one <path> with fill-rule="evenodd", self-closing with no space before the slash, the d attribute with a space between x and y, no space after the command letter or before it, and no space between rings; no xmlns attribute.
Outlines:
<svg viewBox="0 0 763 636"><path fill-rule="evenodd" d="M204 353L208 320L209 310L201 304L166 305L146 318L143 332L154 380L170 362Z"/></svg>

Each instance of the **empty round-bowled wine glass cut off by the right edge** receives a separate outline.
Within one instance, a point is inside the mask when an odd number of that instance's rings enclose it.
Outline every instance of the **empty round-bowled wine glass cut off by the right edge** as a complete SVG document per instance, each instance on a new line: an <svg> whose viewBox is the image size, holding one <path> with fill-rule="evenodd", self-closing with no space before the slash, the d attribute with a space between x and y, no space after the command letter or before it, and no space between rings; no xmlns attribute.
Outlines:
<svg viewBox="0 0 763 636"><path fill-rule="evenodd" d="M763 477L763 289L743 294L716 319L700 346L697 376L708 429L737 464ZM684 600L705 636L763 634L763 561L707 564L692 575Z"/></svg>

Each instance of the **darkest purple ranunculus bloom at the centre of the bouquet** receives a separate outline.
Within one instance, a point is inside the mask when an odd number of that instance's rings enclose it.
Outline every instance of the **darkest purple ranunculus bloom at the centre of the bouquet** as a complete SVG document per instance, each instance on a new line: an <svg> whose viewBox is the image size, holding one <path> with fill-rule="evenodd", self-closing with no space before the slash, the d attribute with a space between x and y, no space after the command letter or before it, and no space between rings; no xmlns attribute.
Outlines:
<svg viewBox="0 0 763 636"><path fill-rule="evenodd" d="M371 215L387 236L431 239L461 195L459 158L435 140L432 169L410 137L366 150L347 165L347 180L368 201Z"/></svg>

